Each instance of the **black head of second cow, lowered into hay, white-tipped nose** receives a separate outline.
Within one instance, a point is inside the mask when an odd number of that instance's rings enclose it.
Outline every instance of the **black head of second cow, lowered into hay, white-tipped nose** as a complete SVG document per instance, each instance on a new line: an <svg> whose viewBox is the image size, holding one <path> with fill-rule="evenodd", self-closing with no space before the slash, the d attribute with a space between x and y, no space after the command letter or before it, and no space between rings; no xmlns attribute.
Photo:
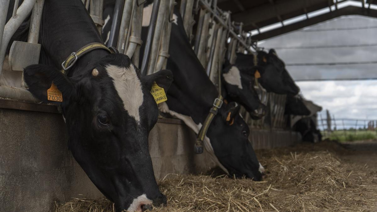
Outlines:
<svg viewBox="0 0 377 212"><path fill-rule="evenodd" d="M215 155L237 178L247 177L260 181L264 168L259 163L248 139L250 130L239 114L240 106L235 102L223 104L216 115L207 136L210 138Z"/></svg>

